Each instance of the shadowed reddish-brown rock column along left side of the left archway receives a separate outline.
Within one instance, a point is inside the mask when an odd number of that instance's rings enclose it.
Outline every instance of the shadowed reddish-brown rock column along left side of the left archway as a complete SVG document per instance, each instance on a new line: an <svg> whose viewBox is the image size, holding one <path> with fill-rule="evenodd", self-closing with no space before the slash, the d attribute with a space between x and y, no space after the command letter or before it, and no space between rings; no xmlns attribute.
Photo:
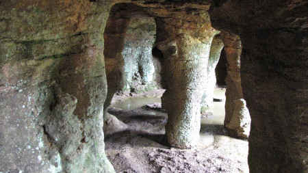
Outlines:
<svg viewBox="0 0 308 173"><path fill-rule="evenodd" d="M129 16L127 14L127 12L119 10L115 5L110 12L104 32L105 71L108 86L104 103L104 120L107 118L107 108L111 104L114 93L123 88L125 81L122 51L126 30L129 25Z"/></svg>

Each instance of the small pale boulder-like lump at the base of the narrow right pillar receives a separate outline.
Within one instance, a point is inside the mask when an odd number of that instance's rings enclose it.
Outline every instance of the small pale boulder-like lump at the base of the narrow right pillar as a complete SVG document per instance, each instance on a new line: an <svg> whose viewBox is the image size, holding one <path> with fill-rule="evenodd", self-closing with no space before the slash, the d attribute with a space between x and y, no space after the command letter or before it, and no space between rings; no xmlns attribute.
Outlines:
<svg viewBox="0 0 308 173"><path fill-rule="evenodd" d="M227 128L235 131L235 135L248 139L251 131L251 116L246 107L246 101L243 98L234 100L234 111L230 122L226 125Z"/></svg>

